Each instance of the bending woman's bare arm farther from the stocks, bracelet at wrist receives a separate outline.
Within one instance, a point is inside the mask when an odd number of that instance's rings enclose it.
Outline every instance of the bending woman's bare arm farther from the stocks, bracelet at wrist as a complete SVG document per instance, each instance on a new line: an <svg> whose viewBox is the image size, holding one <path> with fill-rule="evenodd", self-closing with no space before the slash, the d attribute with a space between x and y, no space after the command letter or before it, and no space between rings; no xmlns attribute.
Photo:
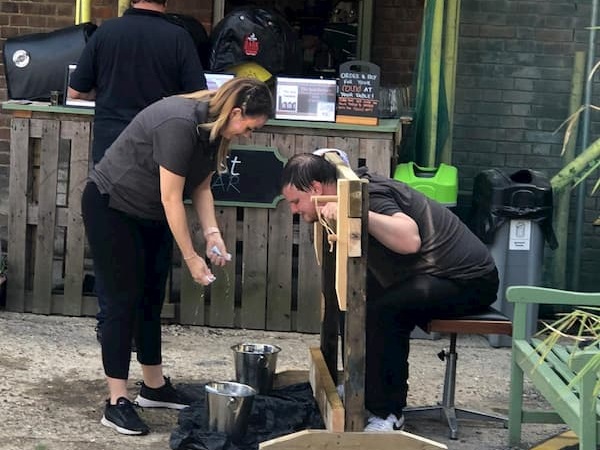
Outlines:
<svg viewBox="0 0 600 450"><path fill-rule="evenodd" d="M161 202L173 238L179 246L182 258L187 264L194 281L206 286L212 282L213 274L206 265L204 258L201 258L194 250L183 204L185 177L177 175L162 166L159 169L159 176Z"/></svg>

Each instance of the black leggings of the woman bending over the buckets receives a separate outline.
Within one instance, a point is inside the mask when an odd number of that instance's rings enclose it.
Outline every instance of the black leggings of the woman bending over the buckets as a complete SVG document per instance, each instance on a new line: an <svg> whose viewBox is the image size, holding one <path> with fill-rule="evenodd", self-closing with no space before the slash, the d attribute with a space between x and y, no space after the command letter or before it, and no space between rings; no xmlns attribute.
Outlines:
<svg viewBox="0 0 600 450"><path fill-rule="evenodd" d="M165 221L136 218L108 203L93 182L86 185L83 222L106 298L102 363L106 376L126 380L133 336L141 364L162 362L160 314L173 239Z"/></svg>

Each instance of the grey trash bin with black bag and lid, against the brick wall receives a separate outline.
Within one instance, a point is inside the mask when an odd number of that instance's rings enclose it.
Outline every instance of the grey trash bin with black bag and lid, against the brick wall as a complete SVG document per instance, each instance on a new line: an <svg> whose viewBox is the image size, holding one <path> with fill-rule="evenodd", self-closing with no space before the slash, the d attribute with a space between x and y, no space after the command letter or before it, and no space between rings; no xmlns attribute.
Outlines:
<svg viewBox="0 0 600 450"><path fill-rule="evenodd" d="M511 319L508 286L541 285L544 243L557 247L552 229L552 187L541 172L523 169L507 175L480 172L473 184L472 227L488 246L498 267L500 285L493 306ZM528 334L537 331L537 305L531 305ZM509 336L489 335L493 347L510 347Z"/></svg>

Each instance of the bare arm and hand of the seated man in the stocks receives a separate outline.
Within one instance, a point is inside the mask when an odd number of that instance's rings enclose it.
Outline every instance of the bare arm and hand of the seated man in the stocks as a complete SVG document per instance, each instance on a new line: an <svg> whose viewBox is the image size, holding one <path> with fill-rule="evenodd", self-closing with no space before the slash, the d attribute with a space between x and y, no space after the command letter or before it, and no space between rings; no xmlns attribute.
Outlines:
<svg viewBox="0 0 600 450"><path fill-rule="evenodd" d="M321 214L328 220L337 218L337 203L326 203ZM369 211L369 234L390 250L402 255L416 253L421 248L417 223L404 213L391 216Z"/></svg>

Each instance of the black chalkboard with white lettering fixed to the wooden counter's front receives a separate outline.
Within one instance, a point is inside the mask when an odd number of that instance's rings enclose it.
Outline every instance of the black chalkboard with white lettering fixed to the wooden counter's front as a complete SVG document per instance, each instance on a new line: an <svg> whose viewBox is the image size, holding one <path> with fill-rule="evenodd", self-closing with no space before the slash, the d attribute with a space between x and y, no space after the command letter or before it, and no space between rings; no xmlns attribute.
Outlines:
<svg viewBox="0 0 600 450"><path fill-rule="evenodd" d="M232 146L227 171L211 181L215 205L275 208L285 161L275 147Z"/></svg>

